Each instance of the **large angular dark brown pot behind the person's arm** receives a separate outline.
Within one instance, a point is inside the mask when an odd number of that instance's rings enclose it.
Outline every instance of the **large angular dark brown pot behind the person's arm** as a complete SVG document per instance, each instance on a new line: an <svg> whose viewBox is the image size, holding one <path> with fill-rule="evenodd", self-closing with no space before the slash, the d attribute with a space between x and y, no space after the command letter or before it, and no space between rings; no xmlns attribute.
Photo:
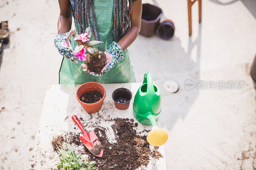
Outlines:
<svg viewBox="0 0 256 170"><path fill-rule="evenodd" d="M146 37L152 36L162 16L161 8L151 4L142 4L140 34Z"/></svg>

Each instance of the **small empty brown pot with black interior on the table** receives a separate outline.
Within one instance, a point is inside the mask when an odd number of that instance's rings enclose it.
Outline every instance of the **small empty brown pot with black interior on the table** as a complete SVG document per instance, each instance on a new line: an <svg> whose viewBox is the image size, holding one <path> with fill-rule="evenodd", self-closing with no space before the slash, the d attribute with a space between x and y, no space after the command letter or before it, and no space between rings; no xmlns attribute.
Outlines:
<svg viewBox="0 0 256 170"><path fill-rule="evenodd" d="M112 99L115 102L115 106L119 110L125 110L129 107L132 99L132 92L126 88L116 89L112 93Z"/></svg>

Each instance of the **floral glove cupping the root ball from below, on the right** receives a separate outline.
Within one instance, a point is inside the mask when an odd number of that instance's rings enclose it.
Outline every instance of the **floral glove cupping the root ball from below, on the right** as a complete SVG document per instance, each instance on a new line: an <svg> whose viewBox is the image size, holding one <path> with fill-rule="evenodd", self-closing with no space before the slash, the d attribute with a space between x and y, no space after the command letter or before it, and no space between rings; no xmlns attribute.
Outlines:
<svg viewBox="0 0 256 170"><path fill-rule="evenodd" d="M109 48L104 52L104 54L107 57L107 64L105 67L103 67L100 74L88 70L87 65L84 63L81 65L84 68L83 71L87 74L100 77L112 69L124 56L123 50L115 41L110 44Z"/></svg>

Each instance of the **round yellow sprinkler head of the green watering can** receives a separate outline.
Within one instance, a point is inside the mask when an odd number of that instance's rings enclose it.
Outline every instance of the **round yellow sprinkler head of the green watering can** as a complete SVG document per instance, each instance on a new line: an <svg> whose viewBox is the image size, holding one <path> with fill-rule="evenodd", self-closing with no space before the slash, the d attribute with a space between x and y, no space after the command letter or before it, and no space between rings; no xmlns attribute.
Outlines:
<svg viewBox="0 0 256 170"><path fill-rule="evenodd" d="M148 133L147 141L153 146L161 146L165 144L168 139L168 134L164 129L158 129L157 126L153 126L152 130Z"/></svg>

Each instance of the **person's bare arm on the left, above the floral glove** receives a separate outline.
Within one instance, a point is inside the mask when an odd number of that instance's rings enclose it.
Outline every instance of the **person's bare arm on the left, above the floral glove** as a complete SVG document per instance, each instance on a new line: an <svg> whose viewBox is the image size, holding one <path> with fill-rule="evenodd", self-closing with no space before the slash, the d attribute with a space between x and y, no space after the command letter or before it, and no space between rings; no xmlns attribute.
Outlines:
<svg viewBox="0 0 256 170"><path fill-rule="evenodd" d="M58 19L58 34L67 33L72 25L72 11L69 0L58 0L60 6L60 16Z"/></svg>

